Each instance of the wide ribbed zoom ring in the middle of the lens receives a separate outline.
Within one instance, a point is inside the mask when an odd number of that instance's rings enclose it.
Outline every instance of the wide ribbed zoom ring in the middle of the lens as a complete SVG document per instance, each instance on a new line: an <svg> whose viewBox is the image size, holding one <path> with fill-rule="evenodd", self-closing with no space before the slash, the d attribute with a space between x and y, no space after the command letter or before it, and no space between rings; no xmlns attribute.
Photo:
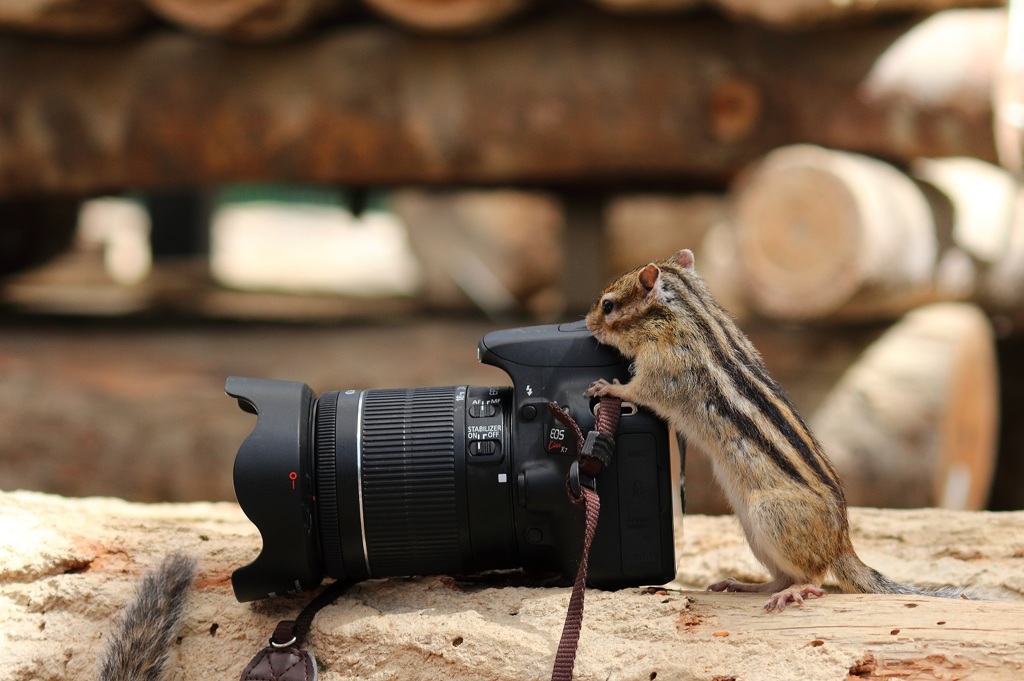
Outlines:
<svg viewBox="0 0 1024 681"><path fill-rule="evenodd" d="M375 576L458 571L455 390L367 392L362 508Z"/></svg>

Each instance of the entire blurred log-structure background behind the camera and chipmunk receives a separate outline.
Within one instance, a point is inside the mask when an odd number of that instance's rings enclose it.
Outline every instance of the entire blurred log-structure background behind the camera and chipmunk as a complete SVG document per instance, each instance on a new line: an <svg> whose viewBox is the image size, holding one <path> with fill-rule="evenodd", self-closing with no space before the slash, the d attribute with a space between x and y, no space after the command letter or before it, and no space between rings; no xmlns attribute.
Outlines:
<svg viewBox="0 0 1024 681"><path fill-rule="evenodd" d="M503 383L484 331L690 247L852 503L1024 508L1017 5L41 0L0 26L4 487L230 499L226 375ZM725 511L687 465L689 510Z"/></svg>

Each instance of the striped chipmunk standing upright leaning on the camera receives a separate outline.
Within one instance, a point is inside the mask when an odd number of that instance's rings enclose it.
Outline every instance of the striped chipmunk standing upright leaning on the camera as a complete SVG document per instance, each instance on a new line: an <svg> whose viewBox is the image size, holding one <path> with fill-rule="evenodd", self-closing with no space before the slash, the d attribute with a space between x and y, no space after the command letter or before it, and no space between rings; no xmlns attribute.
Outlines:
<svg viewBox="0 0 1024 681"><path fill-rule="evenodd" d="M707 452L767 584L727 579L710 591L771 593L765 610L843 590L955 598L897 584L865 565L850 542L843 485L821 445L732 317L679 251L616 280L587 315L601 343L633 359L629 383L594 382L588 396L646 407Z"/></svg>

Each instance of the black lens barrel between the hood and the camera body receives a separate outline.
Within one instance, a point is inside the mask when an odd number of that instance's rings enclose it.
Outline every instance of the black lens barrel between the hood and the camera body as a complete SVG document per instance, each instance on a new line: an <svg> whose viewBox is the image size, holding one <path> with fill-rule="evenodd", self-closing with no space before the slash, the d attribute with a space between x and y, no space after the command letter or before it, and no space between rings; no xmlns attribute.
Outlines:
<svg viewBox="0 0 1024 681"><path fill-rule="evenodd" d="M515 563L510 390L446 386L325 393L313 418L316 520L336 579ZM484 498L481 490L489 487ZM495 504L495 496L499 504ZM483 506L485 508L479 508Z"/></svg>

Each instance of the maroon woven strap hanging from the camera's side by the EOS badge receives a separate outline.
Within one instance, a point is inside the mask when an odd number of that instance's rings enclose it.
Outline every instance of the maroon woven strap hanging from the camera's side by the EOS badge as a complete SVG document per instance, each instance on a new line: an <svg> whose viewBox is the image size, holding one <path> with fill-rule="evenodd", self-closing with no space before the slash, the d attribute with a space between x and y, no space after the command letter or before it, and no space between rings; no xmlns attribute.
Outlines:
<svg viewBox="0 0 1024 681"><path fill-rule="evenodd" d="M570 681L572 678L577 646L580 643L580 632L583 629L587 563L590 557L590 546L597 531L598 514L601 510L601 501L597 496L597 483L594 478L605 466L611 463L611 456L615 452L614 434L615 430L618 429L622 407L623 400L617 397L601 397L594 430L584 437L580 426L567 412L563 411L557 402L548 403L552 416L575 433L580 456L569 468L569 474L565 480L565 491L573 504L583 507L587 523L584 529L580 568L577 570L572 594L569 596L565 623L562 625L562 635L558 641L558 650L555 652L555 665L551 670L551 681Z"/></svg>

